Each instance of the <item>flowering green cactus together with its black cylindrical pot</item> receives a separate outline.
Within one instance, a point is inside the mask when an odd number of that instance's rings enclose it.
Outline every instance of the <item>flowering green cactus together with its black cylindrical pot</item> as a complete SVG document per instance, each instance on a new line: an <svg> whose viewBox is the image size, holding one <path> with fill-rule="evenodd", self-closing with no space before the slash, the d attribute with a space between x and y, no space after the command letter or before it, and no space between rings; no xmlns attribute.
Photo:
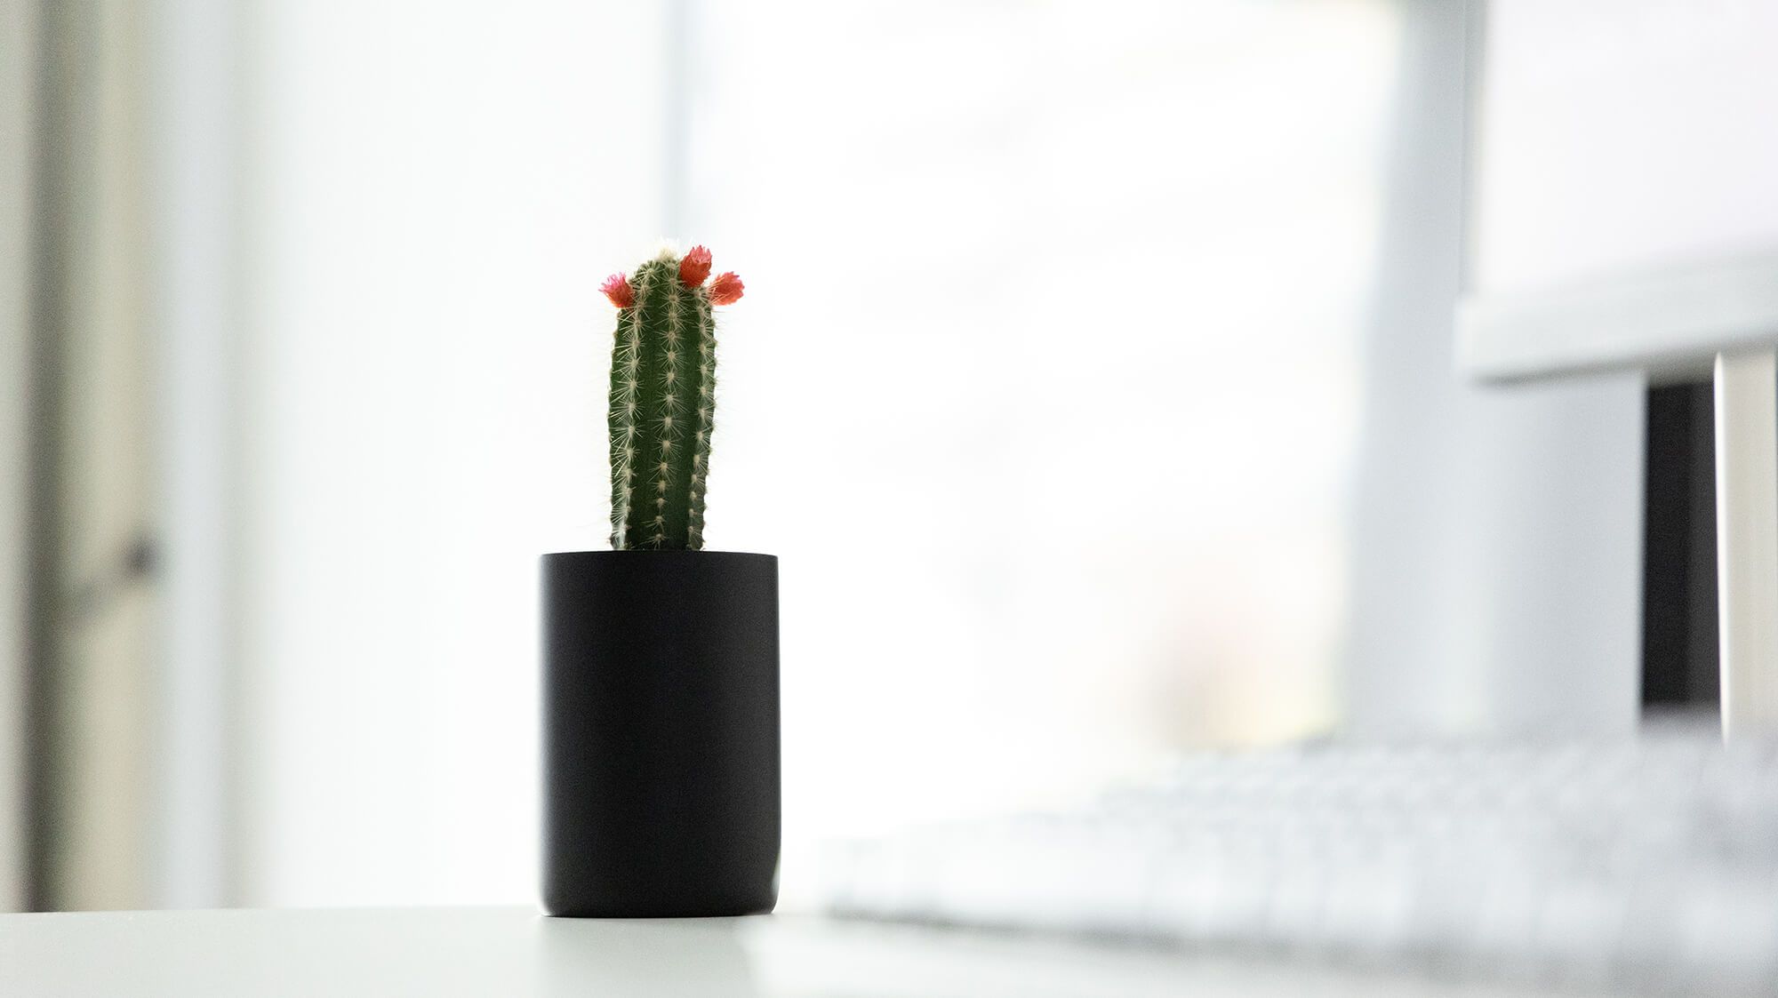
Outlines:
<svg viewBox="0 0 1778 998"><path fill-rule="evenodd" d="M617 307L612 550L542 559L551 915L777 902L777 558L704 550L715 307L741 297L709 265L669 250L601 288Z"/></svg>

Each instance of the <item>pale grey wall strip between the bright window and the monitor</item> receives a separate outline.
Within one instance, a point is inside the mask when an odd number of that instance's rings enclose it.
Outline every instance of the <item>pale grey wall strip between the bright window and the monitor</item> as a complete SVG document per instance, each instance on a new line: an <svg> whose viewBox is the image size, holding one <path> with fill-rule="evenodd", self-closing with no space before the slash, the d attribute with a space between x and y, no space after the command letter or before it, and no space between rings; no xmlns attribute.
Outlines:
<svg viewBox="0 0 1778 998"><path fill-rule="evenodd" d="M1641 675L1643 380L1497 389L1454 369L1465 4L1403 11L1353 479L1344 728L1625 732Z"/></svg>

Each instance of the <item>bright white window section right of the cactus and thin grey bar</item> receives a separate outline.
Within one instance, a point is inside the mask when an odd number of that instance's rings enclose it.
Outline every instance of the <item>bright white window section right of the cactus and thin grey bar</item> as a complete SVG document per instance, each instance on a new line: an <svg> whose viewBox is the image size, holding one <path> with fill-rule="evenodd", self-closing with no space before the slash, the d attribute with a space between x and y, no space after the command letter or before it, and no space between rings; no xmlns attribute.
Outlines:
<svg viewBox="0 0 1778 998"><path fill-rule="evenodd" d="M1330 728L1394 11L697 11L793 845Z"/></svg>

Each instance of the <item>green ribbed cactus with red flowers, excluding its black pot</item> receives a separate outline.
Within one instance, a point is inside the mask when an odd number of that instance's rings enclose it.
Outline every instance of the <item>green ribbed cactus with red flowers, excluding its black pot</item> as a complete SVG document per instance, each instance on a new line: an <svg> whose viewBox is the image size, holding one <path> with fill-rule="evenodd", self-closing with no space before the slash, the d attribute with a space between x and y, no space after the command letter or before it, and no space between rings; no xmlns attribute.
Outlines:
<svg viewBox="0 0 1778 998"><path fill-rule="evenodd" d="M709 277L709 250L663 250L599 288L617 305L612 345L612 549L701 550L717 414L713 305L741 279Z"/></svg>

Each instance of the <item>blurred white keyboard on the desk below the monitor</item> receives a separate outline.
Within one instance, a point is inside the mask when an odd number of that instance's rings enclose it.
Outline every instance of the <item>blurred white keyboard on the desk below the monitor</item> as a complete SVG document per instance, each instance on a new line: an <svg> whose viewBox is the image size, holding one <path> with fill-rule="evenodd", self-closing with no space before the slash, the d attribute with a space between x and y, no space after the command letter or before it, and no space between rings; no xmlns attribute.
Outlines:
<svg viewBox="0 0 1778 998"><path fill-rule="evenodd" d="M834 915L1778 994L1778 742L1310 746L823 856Z"/></svg>

